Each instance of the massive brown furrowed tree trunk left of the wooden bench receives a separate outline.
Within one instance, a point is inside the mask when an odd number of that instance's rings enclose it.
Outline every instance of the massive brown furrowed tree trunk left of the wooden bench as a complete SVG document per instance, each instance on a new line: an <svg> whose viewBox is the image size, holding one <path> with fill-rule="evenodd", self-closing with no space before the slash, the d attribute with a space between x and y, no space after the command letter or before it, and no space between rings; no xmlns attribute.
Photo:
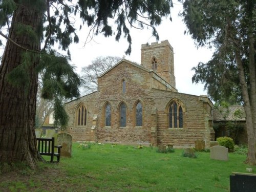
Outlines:
<svg viewBox="0 0 256 192"><path fill-rule="evenodd" d="M19 3L22 1L19 1ZM30 1L23 1L30 2ZM35 67L39 62L39 54L31 59L28 68L28 92L24 87L13 86L7 81L8 74L21 64L22 52L40 51L40 28L42 12L32 5L20 3L12 17L2 65L0 66L0 162L24 162L34 168L40 156L36 150L34 132L36 111L36 90L38 75ZM31 40L31 33L18 33L20 24L30 26L38 34L37 40ZM18 26L19 25L19 26ZM20 48L23 47L23 48Z"/></svg>

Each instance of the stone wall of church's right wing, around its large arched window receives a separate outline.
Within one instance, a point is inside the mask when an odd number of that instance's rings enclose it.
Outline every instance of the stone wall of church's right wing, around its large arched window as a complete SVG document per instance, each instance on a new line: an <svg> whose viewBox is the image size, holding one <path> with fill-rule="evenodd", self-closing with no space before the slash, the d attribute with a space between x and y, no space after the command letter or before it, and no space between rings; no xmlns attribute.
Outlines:
<svg viewBox="0 0 256 192"><path fill-rule="evenodd" d="M207 105L207 108L210 109L210 102L205 102L200 96L161 90L152 90L151 96L155 97L157 109L158 145L173 144L175 147L194 146L195 140L203 139L208 146L209 141L214 140L210 135L206 135L206 133L210 133L213 130L211 126L208 126L208 120L211 120L211 116L208 116L207 113L208 119L206 119L204 112L204 105ZM167 109L168 103L173 99L178 99L184 104L183 128L169 128Z"/></svg>

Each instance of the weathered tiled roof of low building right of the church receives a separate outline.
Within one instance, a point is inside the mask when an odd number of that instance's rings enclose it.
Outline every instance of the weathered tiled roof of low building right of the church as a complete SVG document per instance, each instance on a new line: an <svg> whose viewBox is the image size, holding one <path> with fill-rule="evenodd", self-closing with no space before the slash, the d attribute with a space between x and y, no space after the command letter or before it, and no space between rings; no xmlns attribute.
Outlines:
<svg viewBox="0 0 256 192"><path fill-rule="evenodd" d="M241 112L241 115L236 115L235 112ZM245 121L244 108L241 105L231 105L228 108L219 106L212 110L212 119L214 121Z"/></svg>

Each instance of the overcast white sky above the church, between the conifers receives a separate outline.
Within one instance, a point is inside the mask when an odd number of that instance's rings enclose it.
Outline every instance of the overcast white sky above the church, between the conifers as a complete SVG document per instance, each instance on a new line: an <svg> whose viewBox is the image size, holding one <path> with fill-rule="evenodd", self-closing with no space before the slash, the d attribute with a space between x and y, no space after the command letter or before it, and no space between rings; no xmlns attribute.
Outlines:
<svg viewBox="0 0 256 192"><path fill-rule="evenodd" d="M194 71L191 68L198 65L200 61L207 62L212 55L212 50L207 48L197 49L194 40L190 35L184 34L186 29L182 18L178 17L179 11L182 9L180 3L174 4L171 10L173 22L168 18L163 20L162 24L157 27L160 40L168 40L174 48L174 65L176 77L176 89L181 93L192 95L207 95L203 90L202 84L193 84L191 78ZM113 28L115 29L115 28ZM119 56L123 57L128 47L126 39L121 38L119 42L115 41L115 37L104 37L98 35L94 40L84 46L88 30L86 27L79 35L79 44L72 45L70 48L72 63L77 67L77 72L80 73L82 67L90 65L91 61L98 56ZM152 36L151 29L131 29L132 36L132 53L130 56L125 56L125 59L140 63L141 44L147 42L151 44L156 41Z"/></svg>

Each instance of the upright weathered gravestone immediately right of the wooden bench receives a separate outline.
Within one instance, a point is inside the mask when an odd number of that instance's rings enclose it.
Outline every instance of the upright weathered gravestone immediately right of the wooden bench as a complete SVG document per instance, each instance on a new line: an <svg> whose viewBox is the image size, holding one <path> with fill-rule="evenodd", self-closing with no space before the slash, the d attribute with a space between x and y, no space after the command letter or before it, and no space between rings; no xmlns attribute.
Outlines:
<svg viewBox="0 0 256 192"><path fill-rule="evenodd" d="M72 156L72 136L68 133L60 133L57 136L57 145L61 145L60 157Z"/></svg>

